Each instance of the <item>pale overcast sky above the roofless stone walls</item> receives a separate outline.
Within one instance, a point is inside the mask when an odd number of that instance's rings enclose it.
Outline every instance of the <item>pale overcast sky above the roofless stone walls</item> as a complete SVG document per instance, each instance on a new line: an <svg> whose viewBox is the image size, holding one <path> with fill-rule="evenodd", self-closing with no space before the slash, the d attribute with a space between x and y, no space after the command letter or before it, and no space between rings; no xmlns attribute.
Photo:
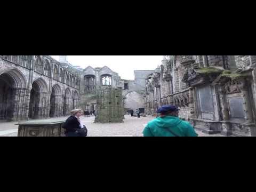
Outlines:
<svg viewBox="0 0 256 192"><path fill-rule="evenodd" d="M59 55L52 55L54 59L59 60ZM103 67L108 66L111 70L121 76L123 79L134 79L134 70L149 69L154 70L161 65L162 55L68 55L67 60L73 66Z"/></svg>

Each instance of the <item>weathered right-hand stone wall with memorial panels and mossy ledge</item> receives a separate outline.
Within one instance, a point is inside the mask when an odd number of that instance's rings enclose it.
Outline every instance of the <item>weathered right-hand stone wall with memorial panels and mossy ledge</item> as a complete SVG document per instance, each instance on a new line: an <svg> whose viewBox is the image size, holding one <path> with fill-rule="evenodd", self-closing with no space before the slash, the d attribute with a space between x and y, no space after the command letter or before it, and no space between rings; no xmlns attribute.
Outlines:
<svg viewBox="0 0 256 192"><path fill-rule="evenodd" d="M255 55L164 56L160 70L147 77L147 114L171 104L204 132L256 135L255 68Z"/></svg>

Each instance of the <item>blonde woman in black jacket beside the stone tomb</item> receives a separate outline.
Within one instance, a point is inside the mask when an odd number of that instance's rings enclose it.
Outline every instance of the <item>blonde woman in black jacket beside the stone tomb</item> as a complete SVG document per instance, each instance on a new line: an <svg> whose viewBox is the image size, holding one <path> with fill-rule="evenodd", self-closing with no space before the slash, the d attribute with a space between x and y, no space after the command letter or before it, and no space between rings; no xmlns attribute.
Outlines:
<svg viewBox="0 0 256 192"><path fill-rule="evenodd" d="M68 117L63 124L63 128L66 129L66 137L86 137L87 129L82 124L80 117L82 116L81 109L74 109L71 111L71 116Z"/></svg>

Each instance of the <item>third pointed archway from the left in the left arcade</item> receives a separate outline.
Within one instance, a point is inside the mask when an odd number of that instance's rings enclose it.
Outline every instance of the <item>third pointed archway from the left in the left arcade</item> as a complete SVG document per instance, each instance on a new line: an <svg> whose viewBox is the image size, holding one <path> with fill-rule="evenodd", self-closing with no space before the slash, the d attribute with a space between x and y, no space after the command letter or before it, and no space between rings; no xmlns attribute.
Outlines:
<svg viewBox="0 0 256 192"><path fill-rule="evenodd" d="M58 84L52 87L50 98L50 117L59 117L61 109L61 88Z"/></svg>

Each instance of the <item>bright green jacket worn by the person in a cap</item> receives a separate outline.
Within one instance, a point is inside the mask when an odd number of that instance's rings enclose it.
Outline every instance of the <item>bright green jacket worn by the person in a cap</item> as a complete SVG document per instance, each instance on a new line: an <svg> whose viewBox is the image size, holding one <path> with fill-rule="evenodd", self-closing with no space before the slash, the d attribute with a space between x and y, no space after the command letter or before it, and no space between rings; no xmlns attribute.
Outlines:
<svg viewBox="0 0 256 192"><path fill-rule="evenodd" d="M179 117L165 116L150 121L143 131L144 137L175 137L171 130L180 137L197 137L194 127Z"/></svg>

